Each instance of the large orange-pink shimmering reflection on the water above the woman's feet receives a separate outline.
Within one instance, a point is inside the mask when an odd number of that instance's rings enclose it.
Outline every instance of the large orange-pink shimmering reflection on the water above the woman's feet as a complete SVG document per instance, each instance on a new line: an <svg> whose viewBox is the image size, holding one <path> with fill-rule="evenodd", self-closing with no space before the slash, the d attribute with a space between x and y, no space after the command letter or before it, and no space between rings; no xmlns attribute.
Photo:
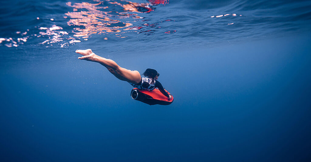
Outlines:
<svg viewBox="0 0 311 162"><path fill-rule="evenodd" d="M70 20L67 22L69 26L75 25L75 37L87 38L92 34L107 34L107 33L119 33L124 29L128 29L129 26L132 26L131 23L121 22L122 18L132 17L133 19L142 19L143 17L138 16L135 13L147 13L153 11L150 6L151 3L136 3L130 1L119 0L119 2L113 0L106 0L110 4L115 4L123 8L124 12L117 12L117 15L112 14L113 11L101 11L102 9L107 9L108 6L103 5L103 1L94 0L95 4L88 2L74 3L67 2L67 6L73 7L73 12L67 12L65 15L70 17ZM122 4L120 2L126 2L127 4ZM161 2L161 3L160 3ZM159 2L154 2L154 5L165 4L167 1L160 0ZM80 9L80 11L79 11ZM81 11L81 9L86 9L88 11ZM67 17L66 16L66 17ZM121 37L121 36L118 36ZM123 37L122 37L123 38Z"/></svg>

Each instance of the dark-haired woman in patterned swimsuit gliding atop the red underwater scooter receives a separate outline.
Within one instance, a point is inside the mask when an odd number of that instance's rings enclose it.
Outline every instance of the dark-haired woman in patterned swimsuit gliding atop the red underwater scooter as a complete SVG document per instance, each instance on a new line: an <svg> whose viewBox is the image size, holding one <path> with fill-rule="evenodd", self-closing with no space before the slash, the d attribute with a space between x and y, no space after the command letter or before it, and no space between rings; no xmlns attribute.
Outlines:
<svg viewBox="0 0 311 162"><path fill-rule="evenodd" d="M138 71L131 71L126 68L122 68L111 59L106 59L95 55L95 53L93 53L91 49L76 50L76 53L83 55L82 57L78 57L78 59L93 61L102 64L115 77L117 77L121 81L129 82L135 88L149 91L158 88L160 92L168 98L168 100L172 98L171 95L165 92L161 83L157 81L160 74L154 69L146 69L146 71L143 73L145 77L141 77Z"/></svg>

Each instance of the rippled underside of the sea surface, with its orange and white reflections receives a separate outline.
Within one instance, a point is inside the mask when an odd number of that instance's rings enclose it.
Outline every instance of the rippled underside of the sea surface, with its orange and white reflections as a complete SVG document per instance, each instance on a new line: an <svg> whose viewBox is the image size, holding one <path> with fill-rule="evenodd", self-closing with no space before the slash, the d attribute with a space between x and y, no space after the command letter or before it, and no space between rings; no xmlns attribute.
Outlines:
<svg viewBox="0 0 311 162"><path fill-rule="evenodd" d="M311 20L310 1L1 3L0 48L26 51L33 46L68 48L75 44L109 46L107 52L206 47L306 30Z"/></svg>

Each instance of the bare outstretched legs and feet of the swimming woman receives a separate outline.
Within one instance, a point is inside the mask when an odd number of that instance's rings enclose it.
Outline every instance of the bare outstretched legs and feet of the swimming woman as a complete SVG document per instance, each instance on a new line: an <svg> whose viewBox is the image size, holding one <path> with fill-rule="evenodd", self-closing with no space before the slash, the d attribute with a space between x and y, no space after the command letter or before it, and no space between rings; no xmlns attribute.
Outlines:
<svg viewBox="0 0 311 162"><path fill-rule="evenodd" d="M134 84L139 84L141 81L141 76L138 71L131 71L126 68L122 68L111 59L106 59L95 55L91 49L76 50L76 53L83 55L82 57L78 57L78 59L84 59L102 64L109 70L109 72L122 81L127 81Z"/></svg>

